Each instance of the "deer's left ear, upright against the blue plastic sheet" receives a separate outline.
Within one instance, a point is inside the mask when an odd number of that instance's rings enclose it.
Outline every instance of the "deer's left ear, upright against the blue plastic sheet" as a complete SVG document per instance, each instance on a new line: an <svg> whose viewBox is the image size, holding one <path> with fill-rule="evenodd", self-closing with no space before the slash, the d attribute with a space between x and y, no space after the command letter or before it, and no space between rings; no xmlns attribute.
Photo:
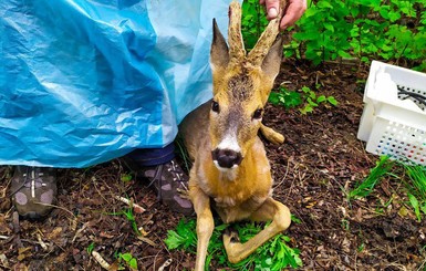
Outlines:
<svg viewBox="0 0 426 271"><path fill-rule="evenodd" d="M218 24L216 23L216 19L212 21L212 28L214 38L210 50L210 63L211 69L215 71L227 67L229 63L229 49L222 33L220 33Z"/></svg>

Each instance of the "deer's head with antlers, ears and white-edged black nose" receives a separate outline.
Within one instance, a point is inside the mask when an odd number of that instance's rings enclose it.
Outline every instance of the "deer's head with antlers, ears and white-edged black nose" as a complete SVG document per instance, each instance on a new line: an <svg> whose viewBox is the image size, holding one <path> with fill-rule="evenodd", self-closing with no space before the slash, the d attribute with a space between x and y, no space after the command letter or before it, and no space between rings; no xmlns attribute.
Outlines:
<svg viewBox="0 0 426 271"><path fill-rule="evenodd" d="M284 1L281 4L284 7ZM209 117L212 159L220 170L237 168L257 138L263 107L281 64L281 17L282 11L269 22L248 54L241 35L240 4L232 2L229 7L229 46L214 20L214 100Z"/></svg>

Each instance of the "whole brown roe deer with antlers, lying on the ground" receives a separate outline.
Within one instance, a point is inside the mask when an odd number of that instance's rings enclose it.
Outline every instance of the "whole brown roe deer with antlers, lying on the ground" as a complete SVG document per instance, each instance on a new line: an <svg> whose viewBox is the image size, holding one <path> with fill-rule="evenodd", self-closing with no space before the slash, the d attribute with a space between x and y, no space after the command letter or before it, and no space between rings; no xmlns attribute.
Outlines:
<svg viewBox="0 0 426 271"><path fill-rule="evenodd" d="M281 1L281 7L285 2ZM246 55L241 7L229 7L228 43L214 20L210 63L214 98L190 113L179 129L194 165L189 197L197 213L197 259L202 271L214 230L210 206L226 223L239 220L272 222L246 243L224 234L230 262L238 262L290 226L290 210L272 199L272 177L259 129L270 140L283 136L261 124L263 107L280 70L282 39L279 17L271 20Z"/></svg>

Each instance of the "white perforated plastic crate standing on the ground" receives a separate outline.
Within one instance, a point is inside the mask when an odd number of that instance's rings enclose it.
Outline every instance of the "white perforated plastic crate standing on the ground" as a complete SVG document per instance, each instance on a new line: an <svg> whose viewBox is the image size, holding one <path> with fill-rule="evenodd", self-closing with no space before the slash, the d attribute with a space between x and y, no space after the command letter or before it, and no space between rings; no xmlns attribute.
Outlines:
<svg viewBox="0 0 426 271"><path fill-rule="evenodd" d="M368 153L426 166L426 106L413 95L426 96L426 74L373 61L357 133Z"/></svg>

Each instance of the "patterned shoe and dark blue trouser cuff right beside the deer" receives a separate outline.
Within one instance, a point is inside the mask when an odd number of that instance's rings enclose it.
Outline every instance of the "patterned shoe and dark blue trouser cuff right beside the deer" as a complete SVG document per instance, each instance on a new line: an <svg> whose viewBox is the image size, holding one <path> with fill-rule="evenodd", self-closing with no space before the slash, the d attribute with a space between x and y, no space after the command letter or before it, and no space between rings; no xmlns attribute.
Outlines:
<svg viewBox="0 0 426 271"><path fill-rule="evenodd" d="M128 157L141 168L149 186L154 185L163 204L184 215L194 212L193 204L184 196L188 190L188 176L175 159L173 143L164 148L136 149Z"/></svg>

